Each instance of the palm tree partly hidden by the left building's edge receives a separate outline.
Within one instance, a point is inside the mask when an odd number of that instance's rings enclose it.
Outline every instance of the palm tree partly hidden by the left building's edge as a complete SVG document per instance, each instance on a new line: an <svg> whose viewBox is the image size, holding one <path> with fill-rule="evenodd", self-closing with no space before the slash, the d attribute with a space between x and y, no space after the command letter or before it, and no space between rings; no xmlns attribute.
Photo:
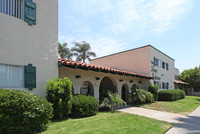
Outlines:
<svg viewBox="0 0 200 134"><path fill-rule="evenodd" d="M58 54L62 59L72 60L73 57L73 54L71 53L69 48L67 48L67 43L63 43L63 45L58 43Z"/></svg>

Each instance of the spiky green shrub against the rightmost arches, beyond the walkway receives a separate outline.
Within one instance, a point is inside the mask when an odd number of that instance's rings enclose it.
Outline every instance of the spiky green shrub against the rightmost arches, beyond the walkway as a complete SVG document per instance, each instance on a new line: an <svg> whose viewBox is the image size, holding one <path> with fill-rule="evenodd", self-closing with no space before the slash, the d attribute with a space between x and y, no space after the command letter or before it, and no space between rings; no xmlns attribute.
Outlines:
<svg viewBox="0 0 200 134"><path fill-rule="evenodd" d="M139 103L153 103L154 96L152 93L140 89L137 86L132 86L132 103L139 104Z"/></svg>

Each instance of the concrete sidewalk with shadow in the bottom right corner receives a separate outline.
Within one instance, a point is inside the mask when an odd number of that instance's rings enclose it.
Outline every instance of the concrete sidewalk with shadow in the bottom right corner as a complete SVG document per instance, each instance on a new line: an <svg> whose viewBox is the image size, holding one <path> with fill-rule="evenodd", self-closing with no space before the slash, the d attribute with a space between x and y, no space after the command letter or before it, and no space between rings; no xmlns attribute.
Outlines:
<svg viewBox="0 0 200 134"><path fill-rule="evenodd" d="M200 106L165 134L200 134Z"/></svg>

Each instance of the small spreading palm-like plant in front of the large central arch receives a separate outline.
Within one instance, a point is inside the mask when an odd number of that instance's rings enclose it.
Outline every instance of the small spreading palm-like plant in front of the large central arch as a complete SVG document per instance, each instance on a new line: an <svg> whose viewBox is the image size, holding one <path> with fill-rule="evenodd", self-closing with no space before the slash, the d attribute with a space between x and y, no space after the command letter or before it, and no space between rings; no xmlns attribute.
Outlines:
<svg viewBox="0 0 200 134"><path fill-rule="evenodd" d="M115 108L120 105L126 105L126 102L118 94L108 91L108 97L103 100L100 107L109 107L114 112Z"/></svg>

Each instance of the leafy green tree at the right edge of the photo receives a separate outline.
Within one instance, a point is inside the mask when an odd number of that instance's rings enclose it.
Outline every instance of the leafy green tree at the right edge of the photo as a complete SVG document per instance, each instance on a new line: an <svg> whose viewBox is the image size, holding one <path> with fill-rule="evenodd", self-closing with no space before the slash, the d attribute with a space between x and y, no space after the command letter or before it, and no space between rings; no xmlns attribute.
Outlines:
<svg viewBox="0 0 200 134"><path fill-rule="evenodd" d="M195 91L200 90L200 66L195 67L194 69L184 70L180 79L184 82L189 83L190 88L194 88Z"/></svg>

